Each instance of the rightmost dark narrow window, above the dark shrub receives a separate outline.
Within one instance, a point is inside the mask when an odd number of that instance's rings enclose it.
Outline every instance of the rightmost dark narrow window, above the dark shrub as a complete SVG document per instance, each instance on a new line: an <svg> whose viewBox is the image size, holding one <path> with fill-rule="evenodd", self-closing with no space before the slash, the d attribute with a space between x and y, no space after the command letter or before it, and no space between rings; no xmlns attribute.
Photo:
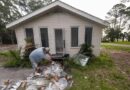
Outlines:
<svg viewBox="0 0 130 90"><path fill-rule="evenodd" d="M85 28L85 43L88 45L92 43L92 27Z"/></svg>

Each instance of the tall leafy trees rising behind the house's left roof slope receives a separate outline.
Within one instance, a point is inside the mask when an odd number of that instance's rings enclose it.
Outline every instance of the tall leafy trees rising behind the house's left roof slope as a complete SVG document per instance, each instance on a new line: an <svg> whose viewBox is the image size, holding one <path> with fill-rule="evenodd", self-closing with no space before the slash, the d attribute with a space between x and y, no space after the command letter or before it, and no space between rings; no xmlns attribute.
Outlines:
<svg viewBox="0 0 130 90"><path fill-rule="evenodd" d="M0 41L5 41L5 38L8 38L11 39L12 43L14 42L13 30L7 31L5 28L7 23L35 11L50 2L52 0L0 0ZM5 37L3 33L8 37Z"/></svg>

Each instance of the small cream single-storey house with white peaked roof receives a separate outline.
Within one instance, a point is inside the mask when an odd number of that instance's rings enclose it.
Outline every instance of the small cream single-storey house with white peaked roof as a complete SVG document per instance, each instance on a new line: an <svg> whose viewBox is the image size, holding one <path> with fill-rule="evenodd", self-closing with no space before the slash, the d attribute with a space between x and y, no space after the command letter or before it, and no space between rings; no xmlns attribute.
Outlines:
<svg viewBox="0 0 130 90"><path fill-rule="evenodd" d="M102 29L107 23L64 2L55 1L6 25L16 33L18 47L25 46L25 38L32 37L36 47L49 47L51 53L76 54L80 45L94 46L93 54L100 54Z"/></svg>

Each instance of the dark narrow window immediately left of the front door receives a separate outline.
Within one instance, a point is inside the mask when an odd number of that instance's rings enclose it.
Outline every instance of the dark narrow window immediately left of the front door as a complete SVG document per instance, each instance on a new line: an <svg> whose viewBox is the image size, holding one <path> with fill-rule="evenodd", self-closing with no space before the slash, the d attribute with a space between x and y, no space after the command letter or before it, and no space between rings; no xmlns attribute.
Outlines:
<svg viewBox="0 0 130 90"><path fill-rule="evenodd" d="M43 47L49 47L48 43L48 29L47 28L40 28L41 31L41 42Z"/></svg>

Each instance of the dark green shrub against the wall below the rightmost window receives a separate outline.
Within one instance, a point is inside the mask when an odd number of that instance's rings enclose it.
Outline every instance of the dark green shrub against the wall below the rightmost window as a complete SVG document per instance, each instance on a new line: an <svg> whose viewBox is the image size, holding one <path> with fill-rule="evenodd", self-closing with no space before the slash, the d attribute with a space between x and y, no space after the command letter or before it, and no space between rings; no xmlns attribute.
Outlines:
<svg viewBox="0 0 130 90"><path fill-rule="evenodd" d="M82 44L79 53L86 56L92 56L92 46L86 43Z"/></svg>

